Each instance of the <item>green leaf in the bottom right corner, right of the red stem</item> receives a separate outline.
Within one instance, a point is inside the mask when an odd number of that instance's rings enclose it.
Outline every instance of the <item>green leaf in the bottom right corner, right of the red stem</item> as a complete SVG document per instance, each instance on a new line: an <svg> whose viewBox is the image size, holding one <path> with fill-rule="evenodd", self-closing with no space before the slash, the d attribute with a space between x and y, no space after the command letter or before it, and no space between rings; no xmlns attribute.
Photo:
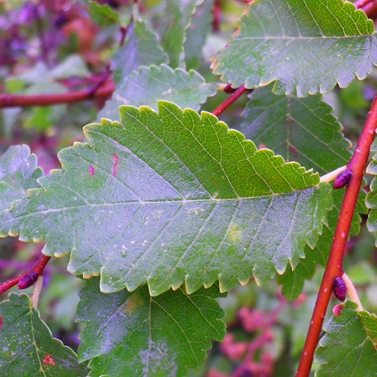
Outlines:
<svg viewBox="0 0 377 377"><path fill-rule="evenodd" d="M332 316L326 323L326 333L315 353L316 362L321 364L316 377L375 375L377 317L356 309L356 303L347 300L340 316Z"/></svg>

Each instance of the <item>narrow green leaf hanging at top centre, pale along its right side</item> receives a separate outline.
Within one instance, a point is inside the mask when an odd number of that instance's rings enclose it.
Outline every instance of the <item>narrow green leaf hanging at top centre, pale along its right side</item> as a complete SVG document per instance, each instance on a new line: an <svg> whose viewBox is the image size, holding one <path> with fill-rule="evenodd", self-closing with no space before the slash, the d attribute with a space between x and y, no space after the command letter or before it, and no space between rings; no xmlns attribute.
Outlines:
<svg viewBox="0 0 377 377"><path fill-rule="evenodd" d="M190 26L195 8L204 0L167 0L164 10L164 25L161 32L161 44L169 56L170 66L182 66L183 46L186 29Z"/></svg>

